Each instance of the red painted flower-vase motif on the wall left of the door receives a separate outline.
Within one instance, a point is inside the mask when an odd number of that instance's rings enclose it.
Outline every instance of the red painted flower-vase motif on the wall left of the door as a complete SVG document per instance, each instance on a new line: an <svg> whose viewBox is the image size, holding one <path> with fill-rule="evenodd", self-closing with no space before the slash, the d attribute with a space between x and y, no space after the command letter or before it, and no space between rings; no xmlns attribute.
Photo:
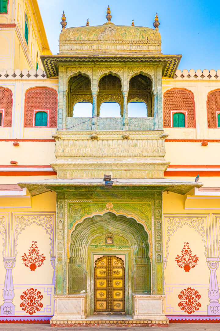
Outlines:
<svg viewBox="0 0 220 331"><path fill-rule="evenodd" d="M40 267L44 264L45 256L43 254L39 255L39 249L37 247L37 242L32 241L32 245L28 251L28 255L24 253L22 256L23 264L26 267L30 267L31 271L35 271L36 267Z"/></svg>

